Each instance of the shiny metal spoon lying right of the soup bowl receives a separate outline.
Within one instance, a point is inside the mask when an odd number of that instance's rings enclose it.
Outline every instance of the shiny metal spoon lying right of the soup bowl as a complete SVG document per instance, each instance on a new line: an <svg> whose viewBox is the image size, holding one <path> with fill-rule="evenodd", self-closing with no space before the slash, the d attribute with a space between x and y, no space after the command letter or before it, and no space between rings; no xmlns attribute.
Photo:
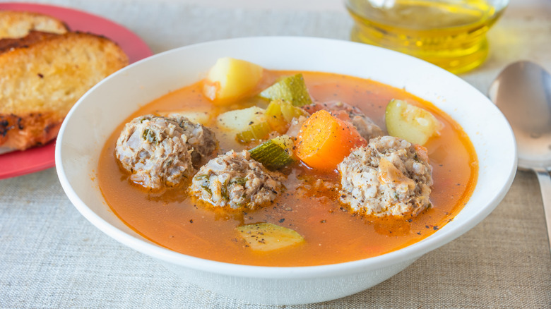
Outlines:
<svg viewBox="0 0 551 309"><path fill-rule="evenodd" d="M519 167L538 176L551 246L551 75L530 61L511 63L494 80L489 95L511 123Z"/></svg>

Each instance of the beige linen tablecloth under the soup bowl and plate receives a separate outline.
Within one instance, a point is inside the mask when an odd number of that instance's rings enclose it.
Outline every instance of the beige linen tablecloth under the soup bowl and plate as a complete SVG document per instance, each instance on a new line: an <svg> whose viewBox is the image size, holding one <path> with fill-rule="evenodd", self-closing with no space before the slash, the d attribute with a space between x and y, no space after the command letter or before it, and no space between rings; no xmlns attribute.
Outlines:
<svg viewBox="0 0 551 309"><path fill-rule="evenodd" d="M39 2L114 20L155 53L257 35L348 40L352 25L338 0L274 1L275 8L252 0ZM487 63L461 76L484 93L511 61L531 59L551 71L551 1L520 2L513 0L490 32ZM186 284L102 234L71 205L54 169L0 181L0 308L272 307ZM283 307L551 308L551 256L535 176L519 172L487 219L382 284L336 301Z"/></svg>

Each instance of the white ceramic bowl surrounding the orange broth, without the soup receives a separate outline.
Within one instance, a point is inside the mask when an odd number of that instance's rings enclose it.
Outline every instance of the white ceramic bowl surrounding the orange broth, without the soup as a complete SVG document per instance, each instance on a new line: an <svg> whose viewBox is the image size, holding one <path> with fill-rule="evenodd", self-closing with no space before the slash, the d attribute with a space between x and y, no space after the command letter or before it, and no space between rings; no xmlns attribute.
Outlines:
<svg viewBox="0 0 551 309"><path fill-rule="evenodd" d="M200 80L222 56L245 59L269 69L370 78L433 102L463 126L475 146L480 171L473 196L452 222L432 236L401 250L336 265L233 265L183 255L147 241L107 207L95 176L100 150L114 128L138 107ZM124 245L154 257L182 279L254 303L296 304L328 301L368 289L478 224L511 186L516 146L509 123L494 104L461 78L437 66L353 42L250 37L173 49L109 76L71 109L57 138L56 166L61 186L86 219Z"/></svg>

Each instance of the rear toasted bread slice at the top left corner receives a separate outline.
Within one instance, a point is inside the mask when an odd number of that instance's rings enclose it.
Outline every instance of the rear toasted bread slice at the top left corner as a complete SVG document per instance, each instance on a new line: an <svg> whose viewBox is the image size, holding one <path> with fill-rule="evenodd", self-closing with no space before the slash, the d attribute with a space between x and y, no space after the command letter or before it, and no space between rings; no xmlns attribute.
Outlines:
<svg viewBox="0 0 551 309"><path fill-rule="evenodd" d="M31 30L63 34L69 28L61 20L40 13L0 11L0 39L25 37Z"/></svg>

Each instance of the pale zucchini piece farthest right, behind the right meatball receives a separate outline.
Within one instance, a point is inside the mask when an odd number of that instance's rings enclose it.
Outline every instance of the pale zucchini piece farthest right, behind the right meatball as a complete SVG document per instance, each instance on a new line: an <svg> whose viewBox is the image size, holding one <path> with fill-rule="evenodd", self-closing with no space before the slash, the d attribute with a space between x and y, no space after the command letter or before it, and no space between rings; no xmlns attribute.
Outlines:
<svg viewBox="0 0 551 309"><path fill-rule="evenodd" d="M399 99L392 99L386 106L384 121L389 135L419 145L438 135L441 126L436 117L426 109Z"/></svg>

